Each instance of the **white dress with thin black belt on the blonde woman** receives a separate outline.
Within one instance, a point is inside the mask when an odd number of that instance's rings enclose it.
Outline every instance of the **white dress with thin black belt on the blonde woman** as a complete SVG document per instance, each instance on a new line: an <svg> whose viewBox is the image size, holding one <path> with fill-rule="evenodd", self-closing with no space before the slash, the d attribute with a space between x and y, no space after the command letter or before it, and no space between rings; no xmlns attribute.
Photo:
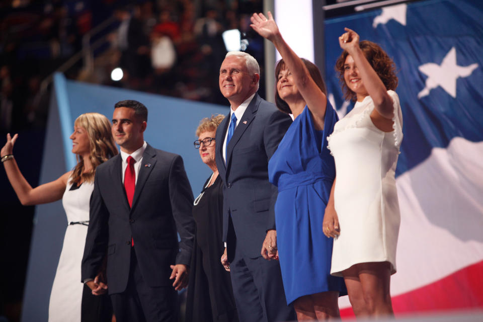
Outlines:
<svg viewBox="0 0 483 322"><path fill-rule="evenodd" d="M70 190L69 182L62 197L67 222L89 220L89 202L94 183L84 182ZM88 226L68 225L50 293L49 322L80 322L84 284L81 282L81 262L84 254Z"/></svg>

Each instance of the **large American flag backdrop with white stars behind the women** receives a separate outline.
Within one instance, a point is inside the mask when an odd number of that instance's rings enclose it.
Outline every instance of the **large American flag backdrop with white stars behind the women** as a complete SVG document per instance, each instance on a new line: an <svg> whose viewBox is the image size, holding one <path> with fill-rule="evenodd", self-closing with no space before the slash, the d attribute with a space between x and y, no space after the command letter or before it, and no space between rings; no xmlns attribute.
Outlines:
<svg viewBox="0 0 483 322"><path fill-rule="evenodd" d="M404 139L397 314L483 308L483 1L428 0L325 21L329 99L344 27L381 45L398 69ZM350 201L349 201L350 202ZM347 297L341 314L352 315Z"/></svg>

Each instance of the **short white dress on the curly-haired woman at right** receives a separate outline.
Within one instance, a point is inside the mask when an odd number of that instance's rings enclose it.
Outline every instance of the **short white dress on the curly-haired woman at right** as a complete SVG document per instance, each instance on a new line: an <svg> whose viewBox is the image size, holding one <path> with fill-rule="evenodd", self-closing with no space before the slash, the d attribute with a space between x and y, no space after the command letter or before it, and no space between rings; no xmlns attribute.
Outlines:
<svg viewBox="0 0 483 322"><path fill-rule="evenodd" d="M400 214L396 169L403 139L399 97L387 91L394 106L393 130L379 130L370 118L374 109L367 96L336 123L329 148L336 162L335 209L341 234L334 240L331 274L354 264L389 262L396 272Z"/></svg>

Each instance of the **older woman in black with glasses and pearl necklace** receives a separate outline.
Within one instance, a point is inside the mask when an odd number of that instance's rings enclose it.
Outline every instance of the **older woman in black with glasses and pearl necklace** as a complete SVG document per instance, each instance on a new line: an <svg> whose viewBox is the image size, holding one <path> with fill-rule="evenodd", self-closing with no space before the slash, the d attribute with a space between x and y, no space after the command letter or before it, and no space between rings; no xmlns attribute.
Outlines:
<svg viewBox="0 0 483 322"><path fill-rule="evenodd" d="M190 265L186 321L237 321L230 274L220 265L222 239L223 185L215 162L216 128L224 115L201 120L196 129L201 160L213 173L194 201L196 234Z"/></svg>

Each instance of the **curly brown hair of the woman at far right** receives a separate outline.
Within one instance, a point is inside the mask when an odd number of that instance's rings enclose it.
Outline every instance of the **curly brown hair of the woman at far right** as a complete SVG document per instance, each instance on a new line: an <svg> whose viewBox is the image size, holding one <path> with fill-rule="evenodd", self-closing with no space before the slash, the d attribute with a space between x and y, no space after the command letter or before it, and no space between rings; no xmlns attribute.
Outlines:
<svg viewBox="0 0 483 322"><path fill-rule="evenodd" d="M369 40L363 40L359 43L364 56L369 64L376 71L386 90L395 90L397 87L396 65L394 61L387 55L387 53L376 43ZM343 51L336 62L336 71L339 73L339 82L341 83L344 98L346 100L355 101L357 99L356 93L347 87L344 79L344 64L349 55L347 51Z"/></svg>

